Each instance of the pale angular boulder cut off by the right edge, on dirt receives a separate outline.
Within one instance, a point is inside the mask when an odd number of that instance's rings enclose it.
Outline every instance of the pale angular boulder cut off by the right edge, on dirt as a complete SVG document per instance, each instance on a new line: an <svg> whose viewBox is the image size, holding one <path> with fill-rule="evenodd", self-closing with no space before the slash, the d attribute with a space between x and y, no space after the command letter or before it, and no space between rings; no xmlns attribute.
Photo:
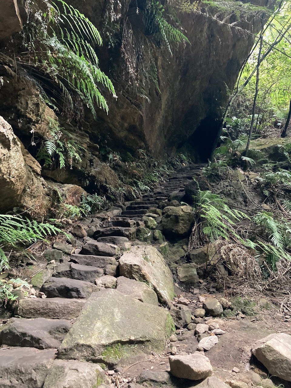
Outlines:
<svg viewBox="0 0 291 388"><path fill-rule="evenodd" d="M251 352L268 369L269 373L291 381L291 336L285 333L270 334L256 341Z"/></svg>

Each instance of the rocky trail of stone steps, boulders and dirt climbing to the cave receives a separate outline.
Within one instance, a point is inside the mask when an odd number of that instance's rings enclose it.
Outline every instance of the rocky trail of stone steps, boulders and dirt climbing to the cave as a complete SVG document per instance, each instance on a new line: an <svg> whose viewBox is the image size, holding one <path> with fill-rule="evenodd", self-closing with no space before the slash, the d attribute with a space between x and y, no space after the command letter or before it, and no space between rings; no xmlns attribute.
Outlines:
<svg viewBox="0 0 291 388"><path fill-rule="evenodd" d="M193 213L179 201L203 166L38 247L0 326L0 388L291 386L290 325L272 306L248 316L195 263L168 260L186 256Z"/></svg>

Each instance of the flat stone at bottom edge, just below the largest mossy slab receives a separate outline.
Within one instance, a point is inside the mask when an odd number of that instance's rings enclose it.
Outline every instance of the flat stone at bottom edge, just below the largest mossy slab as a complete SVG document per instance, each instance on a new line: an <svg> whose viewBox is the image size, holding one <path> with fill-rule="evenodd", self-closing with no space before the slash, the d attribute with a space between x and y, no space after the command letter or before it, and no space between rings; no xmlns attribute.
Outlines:
<svg viewBox="0 0 291 388"><path fill-rule="evenodd" d="M43 388L91 388L111 383L97 364L75 360L55 360Z"/></svg>

